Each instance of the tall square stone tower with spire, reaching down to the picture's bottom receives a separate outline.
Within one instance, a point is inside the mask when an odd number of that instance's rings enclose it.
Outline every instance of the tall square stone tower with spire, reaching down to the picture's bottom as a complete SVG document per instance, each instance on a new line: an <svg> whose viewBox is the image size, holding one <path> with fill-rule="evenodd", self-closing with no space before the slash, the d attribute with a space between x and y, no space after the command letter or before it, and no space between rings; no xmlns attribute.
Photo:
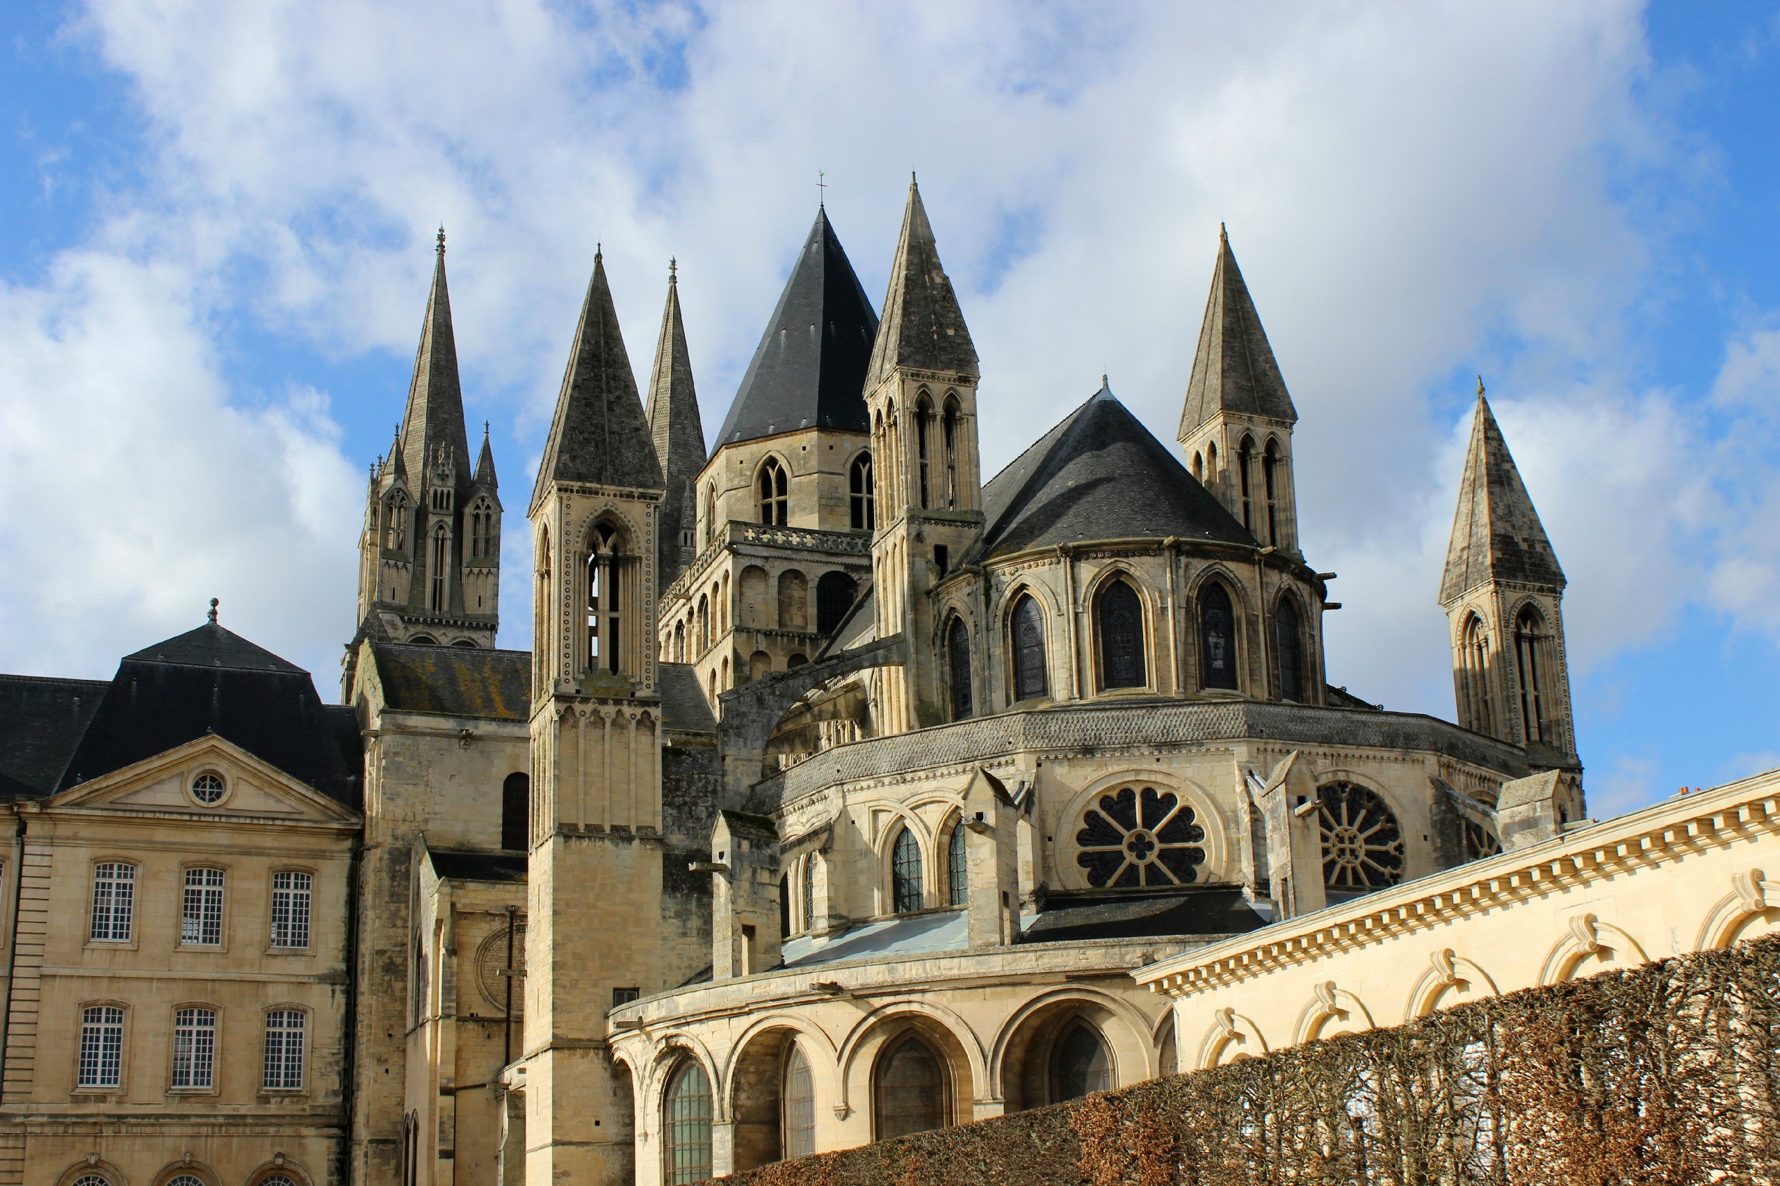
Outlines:
<svg viewBox="0 0 1780 1186"><path fill-rule="evenodd" d="M605 264L532 491L525 1181L632 1174L632 1086L605 1011L666 983L655 600L662 470ZM678 981L675 981L678 983Z"/></svg>

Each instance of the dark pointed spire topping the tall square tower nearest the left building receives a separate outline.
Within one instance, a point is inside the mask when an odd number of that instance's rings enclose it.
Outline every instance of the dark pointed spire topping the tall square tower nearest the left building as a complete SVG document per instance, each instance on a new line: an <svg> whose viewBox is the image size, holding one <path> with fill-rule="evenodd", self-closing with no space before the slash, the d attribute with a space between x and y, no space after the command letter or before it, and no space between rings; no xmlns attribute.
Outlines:
<svg viewBox="0 0 1780 1186"><path fill-rule="evenodd" d="M605 260L593 256L593 280L580 306L550 438L538 467L532 506L550 481L662 490L650 422L618 329Z"/></svg>

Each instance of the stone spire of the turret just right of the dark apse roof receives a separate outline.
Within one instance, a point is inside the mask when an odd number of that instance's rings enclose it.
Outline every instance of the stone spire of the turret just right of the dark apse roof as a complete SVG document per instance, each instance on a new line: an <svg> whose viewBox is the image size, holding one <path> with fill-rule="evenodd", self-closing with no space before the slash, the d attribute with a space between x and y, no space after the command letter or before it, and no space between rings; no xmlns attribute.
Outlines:
<svg viewBox="0 0 1780 1186"><path fill-rule="evenodd" d="M1242 281L1242 269L1230 251L1230 235L1218 228L1218 265L1205 299L1200 347L1193 356L1187 399L1180 410L1178 440L1185 440L1219 411L1298 422L1298 410L1285 392L1280 363L1273 358L1267 331L1260 328L1255 299Z"/></svg>

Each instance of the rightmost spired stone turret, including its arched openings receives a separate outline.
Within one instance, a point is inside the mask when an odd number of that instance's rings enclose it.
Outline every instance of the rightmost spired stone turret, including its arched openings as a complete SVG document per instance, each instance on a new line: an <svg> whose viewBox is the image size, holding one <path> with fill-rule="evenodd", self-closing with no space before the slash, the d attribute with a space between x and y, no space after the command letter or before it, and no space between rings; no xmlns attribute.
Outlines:
<svg viewBox="0 0 1780 1186"><path fill-rule="evenodd" d="M1483 397L1465 452L1440 609L1452 638L1458 723L1552 766L1575 764L1563 568Z"/></svg>

